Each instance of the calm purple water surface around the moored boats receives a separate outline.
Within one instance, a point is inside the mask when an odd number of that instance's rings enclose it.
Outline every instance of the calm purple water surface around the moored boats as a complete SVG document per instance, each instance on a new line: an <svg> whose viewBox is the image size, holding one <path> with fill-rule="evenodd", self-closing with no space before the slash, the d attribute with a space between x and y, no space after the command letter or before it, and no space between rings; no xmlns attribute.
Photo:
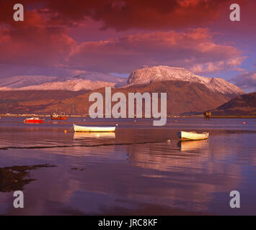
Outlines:
<svg viewBox="0 0 256 230"><path fill-rule="evenodd" d="M256 119L22 121L0 120L0 214L256 214ZM118 127L74 134L73 123ZM210 138L180 143L180 130ZM25 208L13 208L14 190ZM229 207L231 190L241 208Z"/></svg>

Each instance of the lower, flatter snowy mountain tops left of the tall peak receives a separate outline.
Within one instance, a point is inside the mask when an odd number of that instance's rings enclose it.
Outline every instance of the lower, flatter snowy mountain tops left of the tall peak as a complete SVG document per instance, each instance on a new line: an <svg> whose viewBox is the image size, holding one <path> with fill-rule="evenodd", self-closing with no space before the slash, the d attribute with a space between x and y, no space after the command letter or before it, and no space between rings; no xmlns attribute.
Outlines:
<svg viewBox="0 0 256 230"><path fill-rule="evenodd" d="M105 86L118 86L124 84L125 78L102 73L86 73L74 77L58 77L45 75L20 75L1 78L0 91L43 91L67 90L81 91L93 90Z"/></svg>

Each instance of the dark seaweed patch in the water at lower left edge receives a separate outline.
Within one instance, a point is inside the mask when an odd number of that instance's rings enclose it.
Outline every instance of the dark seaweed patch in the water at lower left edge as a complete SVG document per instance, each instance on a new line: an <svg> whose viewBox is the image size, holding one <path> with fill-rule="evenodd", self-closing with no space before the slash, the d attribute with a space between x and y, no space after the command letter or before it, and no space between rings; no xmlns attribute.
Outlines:
<svg viewBox="0 0 256 230"><path fill-rule="evenodd" d="M29 171L40 167L56 167L56 165L0 167L0 192L9 193L15 190L23 190L25 185L36 180L30 178Z"/></svg>

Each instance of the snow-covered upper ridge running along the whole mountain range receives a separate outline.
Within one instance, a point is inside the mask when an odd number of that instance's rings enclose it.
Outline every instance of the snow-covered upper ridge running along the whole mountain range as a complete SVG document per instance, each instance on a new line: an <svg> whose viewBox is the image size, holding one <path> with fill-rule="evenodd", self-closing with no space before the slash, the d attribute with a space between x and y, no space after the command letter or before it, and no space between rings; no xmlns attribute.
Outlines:
<svg viewBox="0 0 256 230"><path fill-rule="evenodd" d="M0 91L43 91L64 90L83 91L94 90L106 86L115 88L148 84L153 81L183 80L204 84L213 92L226 93L229 96L244 94L244 91L223 78L208 78L195 75L185 68L164 65L139 68L133 70L128 79L105 73L87 72L73 77L20 75L2 78Z"/></svg>

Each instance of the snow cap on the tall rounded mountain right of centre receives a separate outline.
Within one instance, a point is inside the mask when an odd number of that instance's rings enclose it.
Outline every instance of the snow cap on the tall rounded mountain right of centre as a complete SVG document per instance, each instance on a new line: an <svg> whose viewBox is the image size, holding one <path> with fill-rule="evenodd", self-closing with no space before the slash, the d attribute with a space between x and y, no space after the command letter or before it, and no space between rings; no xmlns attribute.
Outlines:
<svg viewBox="0 0 256 230"><path fill-rule="evenodd" d="M185 68L169 67L164 65L145 67L134 70L128 78L126 86L146 84L159 80L182 80L195 83L201 83L211 91L219 93L228 93L234 95L243 94L241 88L222 78L207 78L195 75Z"/></svg>

